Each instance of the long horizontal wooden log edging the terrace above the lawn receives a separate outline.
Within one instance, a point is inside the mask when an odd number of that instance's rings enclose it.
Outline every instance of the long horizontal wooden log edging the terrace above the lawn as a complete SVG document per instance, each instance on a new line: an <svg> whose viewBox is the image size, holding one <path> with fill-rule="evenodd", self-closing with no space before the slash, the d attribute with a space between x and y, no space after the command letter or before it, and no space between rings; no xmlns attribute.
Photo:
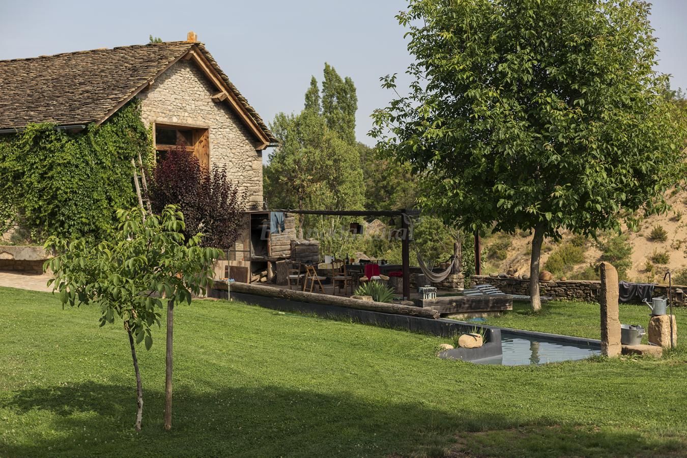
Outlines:
<svg viewBox="0 0 687 458"><path fill-rule="evenodd" d="M214 288L218 290L226 290L227 284L225 282L215 282ZM324 306L355 308L357 310L370 310L372 312L408 315L411 317L423 317L430 319L438 319L440 317L439 312L429 308L386 304L385 302L361 301L359 299L351 299L350 297L329 296L324 294L308 293L300 290L282 290L280 288L273 288L272 286L232 283L232 291L236 293L252 294L262 297L273 297L275 299L309 302L311 304L322 304Z"/></svg>

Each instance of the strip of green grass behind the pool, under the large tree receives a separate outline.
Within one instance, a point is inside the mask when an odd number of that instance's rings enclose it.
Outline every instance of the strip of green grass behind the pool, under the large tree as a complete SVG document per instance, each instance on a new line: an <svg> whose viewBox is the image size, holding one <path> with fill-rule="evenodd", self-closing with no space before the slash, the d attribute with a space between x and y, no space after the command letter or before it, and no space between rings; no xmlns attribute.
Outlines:
<svg viewBox="0 0 687 458"><path fill-rule="evenodd" d="M624 324L640 324L647 329L650 313L647 306L620 304L620 322ZM677 329L687 330L687 308L675 307L673 313ZM587 339L601 338L599 305L589 302L547 301L541 305L541 312L534 313L529 302L514 301L513 312L489 318L484 324Z"/></svg>

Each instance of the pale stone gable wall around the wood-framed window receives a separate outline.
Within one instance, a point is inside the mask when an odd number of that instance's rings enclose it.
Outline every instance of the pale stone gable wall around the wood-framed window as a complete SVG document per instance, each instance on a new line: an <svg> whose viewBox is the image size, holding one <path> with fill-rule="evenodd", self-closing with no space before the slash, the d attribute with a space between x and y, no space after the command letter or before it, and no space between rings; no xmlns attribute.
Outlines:
<svg viewBox="0 0 687 458"><path fill-rule="evenodd" d="M143 122L209 128L210 165L225 165L229 179L247 191L249 207L262 209L262 152L229 104L210 99L216 92L194 63L179 60L139 93Z"/></svg>

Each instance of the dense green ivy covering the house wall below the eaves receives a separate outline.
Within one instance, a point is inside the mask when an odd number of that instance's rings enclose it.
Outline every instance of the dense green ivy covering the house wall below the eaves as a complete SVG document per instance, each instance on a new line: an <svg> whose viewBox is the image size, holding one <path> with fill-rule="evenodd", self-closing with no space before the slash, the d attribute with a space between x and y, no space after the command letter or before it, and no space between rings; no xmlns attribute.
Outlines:
<svg viewBox="0 0 687 458"><path fill-rule="evenodd" d="M0 234L106 237L115 210L137 205L131 158L141 152L146 163L152 150L138 100L80 133L32 124L0 135Z"/></svg>

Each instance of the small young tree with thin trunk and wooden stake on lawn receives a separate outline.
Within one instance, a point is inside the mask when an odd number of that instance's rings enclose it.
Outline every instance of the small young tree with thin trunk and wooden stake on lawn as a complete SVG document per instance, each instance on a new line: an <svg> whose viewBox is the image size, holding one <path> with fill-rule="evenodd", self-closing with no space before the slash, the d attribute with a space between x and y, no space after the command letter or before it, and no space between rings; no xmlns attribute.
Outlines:
<svg viewBox="0 0 687 458"><path fill-rule="evenodd" d="M55 237L46 249L57 253L45 263L55 278L55 292L69 306L100 306L100 325L122 319L128 335L136 376L136 431L141 430L143 389L135 343L153 345L151 326L159 326L163 300L167 301L167 377L165 428L172 425L172 330L174 305L191 304L192 295L212 286L212 266L221 254L200 246L201 234L185 240L183 214L165 207L160 216L143 219L139 208L117 211L119 229L109 240L93 244Z"/></svg>

